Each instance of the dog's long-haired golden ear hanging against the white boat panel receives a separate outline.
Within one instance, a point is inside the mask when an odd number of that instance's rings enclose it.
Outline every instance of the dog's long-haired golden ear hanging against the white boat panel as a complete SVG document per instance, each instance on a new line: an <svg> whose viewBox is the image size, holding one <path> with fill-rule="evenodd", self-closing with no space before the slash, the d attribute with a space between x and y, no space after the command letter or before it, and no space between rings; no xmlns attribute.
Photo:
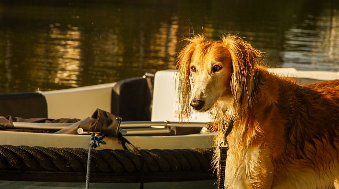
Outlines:
<svg viewBox="0 0 339 189"><path fill-rule="evenodd" d="M201 35L196 35L190 39L186 39L188 43L186 46L178 53L176 69L177 80L179 83L178 90L178 104L179 104L179 119L183 120L184 118L189 119L191 106L190 106L190 97L191 97L191 76L190 76L190 63L194 50L198 44L201 44L205 41L205 37Z"/></svg>

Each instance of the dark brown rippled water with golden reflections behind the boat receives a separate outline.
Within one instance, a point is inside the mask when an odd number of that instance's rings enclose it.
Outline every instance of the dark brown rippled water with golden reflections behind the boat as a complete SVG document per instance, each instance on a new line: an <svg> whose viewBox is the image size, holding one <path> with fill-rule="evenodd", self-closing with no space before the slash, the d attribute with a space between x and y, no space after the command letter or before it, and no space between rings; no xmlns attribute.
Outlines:
<svg viewBox="0 0 339 189"><path fill-rule="evenodd" d="M0 92L172 69L191 33L239 34L274 67L339 71L336 0L0 0Z"/></svg>

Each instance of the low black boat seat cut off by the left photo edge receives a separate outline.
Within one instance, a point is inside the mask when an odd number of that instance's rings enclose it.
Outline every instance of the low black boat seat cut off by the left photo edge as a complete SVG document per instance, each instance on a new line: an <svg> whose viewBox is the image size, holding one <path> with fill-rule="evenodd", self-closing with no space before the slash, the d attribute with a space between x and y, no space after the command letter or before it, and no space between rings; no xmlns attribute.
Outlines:
<svg viewBox="0 0 339 189"><path fill-rule="evenodd" d="M0 116L12 115L21 118L47 118L45 97L36 92L0 94Z"/></svg>

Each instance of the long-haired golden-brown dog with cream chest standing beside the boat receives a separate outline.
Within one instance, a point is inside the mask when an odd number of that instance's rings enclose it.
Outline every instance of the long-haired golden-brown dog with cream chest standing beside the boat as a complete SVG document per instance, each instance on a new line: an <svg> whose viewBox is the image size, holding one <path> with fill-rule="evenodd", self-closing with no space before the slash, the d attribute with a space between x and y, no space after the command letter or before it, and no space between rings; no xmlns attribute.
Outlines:
<svg viewBox="0 0 339 189"><path fill-rule="evenodd" d="M210 111L216 147L223 122L234 121L225 187L339 189L339 80L300 86L275 76L237 36L187 40L177 58L180 110Z"/></svg>

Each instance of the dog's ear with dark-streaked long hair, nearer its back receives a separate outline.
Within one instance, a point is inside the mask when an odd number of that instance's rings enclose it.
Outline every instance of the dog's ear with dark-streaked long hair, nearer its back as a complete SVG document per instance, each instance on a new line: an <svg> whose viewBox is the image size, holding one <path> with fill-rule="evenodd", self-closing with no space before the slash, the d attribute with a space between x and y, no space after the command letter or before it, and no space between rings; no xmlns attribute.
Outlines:
<svg viewBox="0 0 339 189"><path fill-rule="evenodd" d="M254 67L262 52L253 48L238 36L223 36L224 46L230 51L232 60L231 91L234 96L234 118L242 118L251 105L251 92L254 83Z"/></svg>

